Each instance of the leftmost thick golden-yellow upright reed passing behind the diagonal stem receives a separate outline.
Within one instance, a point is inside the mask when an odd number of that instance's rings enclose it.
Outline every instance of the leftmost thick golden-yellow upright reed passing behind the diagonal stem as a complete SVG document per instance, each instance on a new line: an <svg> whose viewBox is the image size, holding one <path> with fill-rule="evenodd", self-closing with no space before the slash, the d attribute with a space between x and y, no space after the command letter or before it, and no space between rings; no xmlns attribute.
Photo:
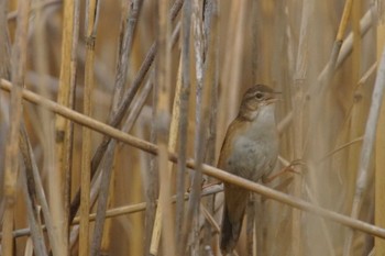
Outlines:
<svg viewBox="0 0 385 256"><path fill-rule="evenodd" d="M63 18L62 63L57 93L57 102L74 108L70 104L74 94L74 80L76 70L72 68L72 53L75 41L75 1L64 2ZM46 58L45 58L46 59ZM68 86L69 85L69 86ZM57 115L55 120L55 151L56 167L50 175L50 197L53 223L56 230L54 255L66 255L68 249L68 214L70 200L70 163L72 163L72 129L70 122ZM56 244L56 245L55 245ZM58 246L58 247L57 247Z"/></svg>

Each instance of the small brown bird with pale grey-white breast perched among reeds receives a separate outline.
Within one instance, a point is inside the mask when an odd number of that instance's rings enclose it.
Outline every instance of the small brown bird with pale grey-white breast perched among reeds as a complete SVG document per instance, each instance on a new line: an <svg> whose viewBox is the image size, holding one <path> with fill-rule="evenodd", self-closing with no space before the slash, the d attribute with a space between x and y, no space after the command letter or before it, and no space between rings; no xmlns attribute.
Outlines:
<svg viewBox="0 0 385 256"><path fill-rule="evenodd" d="M218 167L242 178L258 181L273 170L278 156L278 134L274 116L277 92L257 85L243 96L238 116L230 124ZM249 191L224 183L220 248L231 253L239 240Z"/></svg>

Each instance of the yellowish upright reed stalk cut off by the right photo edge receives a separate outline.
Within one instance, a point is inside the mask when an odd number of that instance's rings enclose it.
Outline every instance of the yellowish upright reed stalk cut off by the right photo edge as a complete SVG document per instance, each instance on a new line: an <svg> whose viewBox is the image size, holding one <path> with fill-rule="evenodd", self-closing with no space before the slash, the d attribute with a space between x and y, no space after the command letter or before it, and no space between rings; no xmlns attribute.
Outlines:
<svg viewBox="0 0 385 256"><path fill-rule="evenodd" d="M384 1L381 1L384 7ZM384 51L385 46L385 19L384 14L377 20L377 60L381 59L380 53ZM378 127L375 143L375 225L385 226L385 104L381 107ZM385 241L375 238L375 255L385 255ZM373 254L374 255L374 254Z"/></svg>

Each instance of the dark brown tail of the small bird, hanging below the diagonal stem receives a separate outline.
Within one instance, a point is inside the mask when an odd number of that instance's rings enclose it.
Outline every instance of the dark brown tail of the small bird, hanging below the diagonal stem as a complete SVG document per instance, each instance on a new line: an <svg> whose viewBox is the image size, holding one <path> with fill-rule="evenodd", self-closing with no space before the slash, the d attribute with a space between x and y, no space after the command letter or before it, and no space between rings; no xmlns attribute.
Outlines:
<svg viewBox="0 0 385 256"><path fill-rule="evenodd" d="M223 255L230 254L237 245L241 234L244 210L246 207L245 204L246 203L240 203L235 210L235 214L229 212L227 203L223 205L220 243L220 248Z"/></svg>

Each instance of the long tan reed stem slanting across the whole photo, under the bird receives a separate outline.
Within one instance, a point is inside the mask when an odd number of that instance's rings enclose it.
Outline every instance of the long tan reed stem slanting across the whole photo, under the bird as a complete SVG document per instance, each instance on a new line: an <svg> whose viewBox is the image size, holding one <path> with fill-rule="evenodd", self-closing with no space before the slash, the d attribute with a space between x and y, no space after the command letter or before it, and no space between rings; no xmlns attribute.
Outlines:
<svg viewBox="0 0 385 256"><path fill-rule="evenodd" d="M4 79L0 79L0 81L1 81L0 88L2 90L6 90L9 92L12 89L12 84L10 81L4 80ZM78 113L69 108L66 108L66 107L61 105L52 100L44 98L42 96L38 96L30 90L23 89L21 92L22 92L22 97L25 100L28 100L34 104L42 105L42 107L55 112L56 114L61 114L61 115L72 120L75 123L78 123L80 125L92 129L94 131L97 131L97 132L105 134L107 136L111 136L120 142L122 142L122 143L125 143L128 145L131 145L133 147L142 149L142 151L147 152L150 154L153 154L153 155L158 154L157 146L152 144L152 143L148 143L148 142L140 140L135 136L129 135L129 134L127 134L122 131L119 131L114 127L111 127L111 126L109 126L100 121L91 119L85 114ZM169 153L168 159L174 162L174 163L177 163L178 157L176 154ZM195 169L196 165L195 165L194 159L188 159L186 162L186 166L188 168ZM355 220L353 218L345 216L343 214L323 209L321 207L314 205L311 203L308 203L305 200L297 199L297 198L292 197L289 194L270 189L263 185L254 183L252 181L242 179L238 176L230 175L230 174L228 174L221 169L218 169L216 167L204 164L202 165L202 172L206 175L212 176L217 179L220 179L222 181L233 183L233 185L237 185L237 186L242 187L244 189L248 189L250 191L260 193L260 194L262 194L266 198L273 199L275 201L288 204L290 207L300 209L302 211L314 213L316 215L322 216L322 218L328 219L328 220L332 220L334 222L338 222L340 224L350 226L352 229L365 232L367 234L385 238L385 229L381 229L378 226L365 223L363 221Z"/></svg>

